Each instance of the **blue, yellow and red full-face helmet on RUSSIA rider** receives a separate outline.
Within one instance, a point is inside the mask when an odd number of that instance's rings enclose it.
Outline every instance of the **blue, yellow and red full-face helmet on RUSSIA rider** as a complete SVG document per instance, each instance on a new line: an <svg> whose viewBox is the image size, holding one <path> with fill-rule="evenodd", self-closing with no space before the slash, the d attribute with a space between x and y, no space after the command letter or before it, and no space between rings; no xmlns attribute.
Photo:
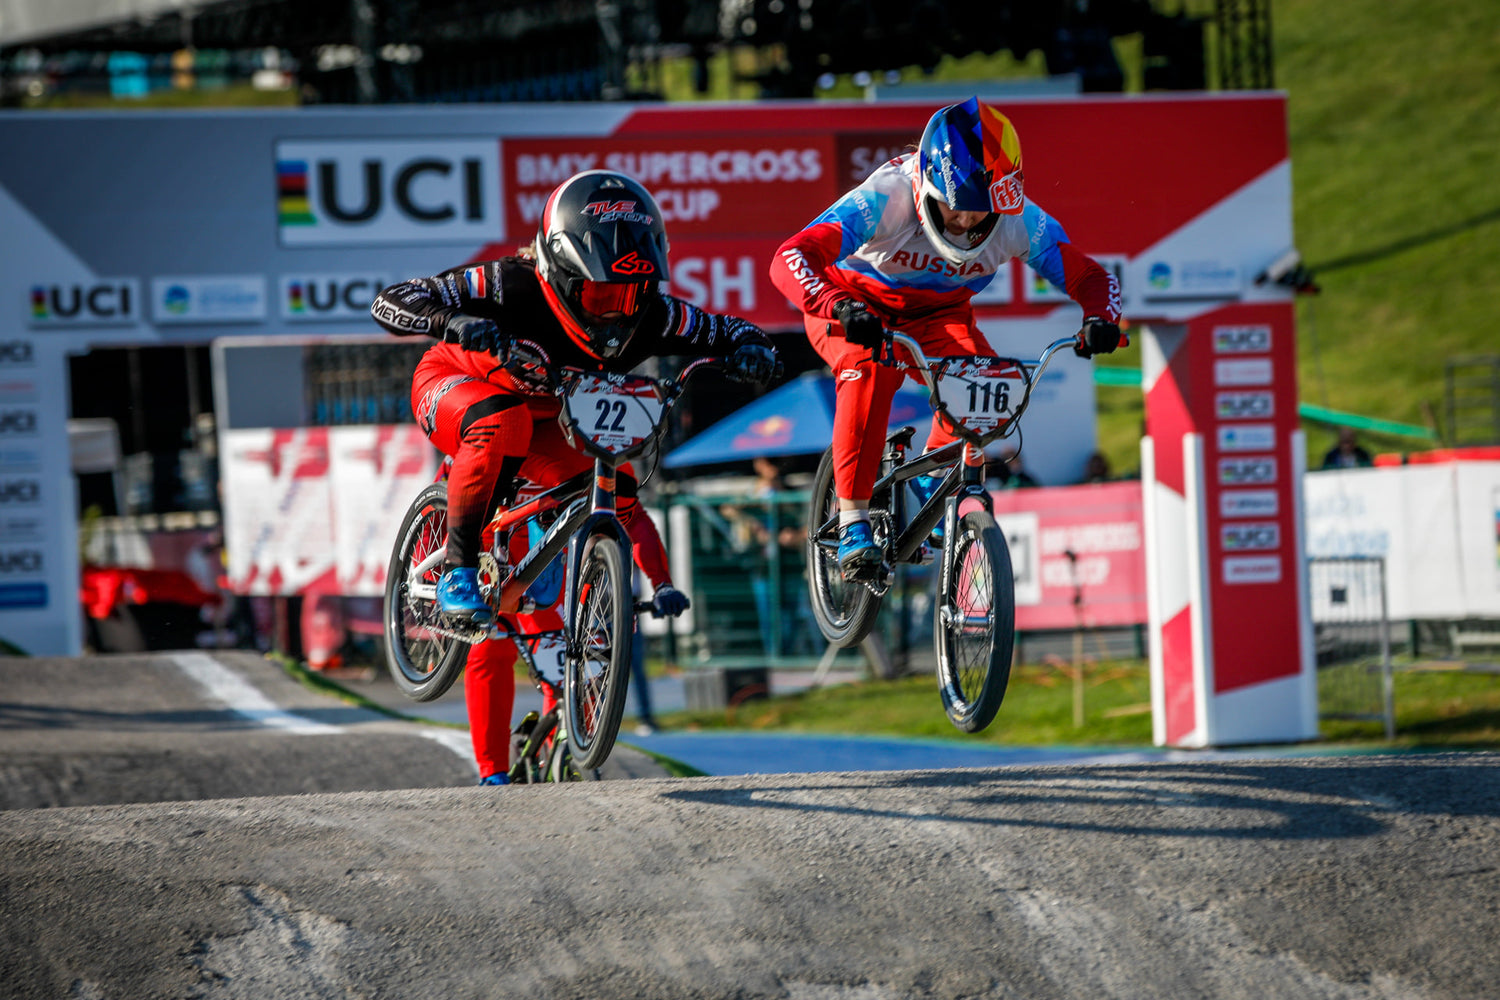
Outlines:
<svg viewBox="0 0 1500 1000"><path fill-rule="evenodd" d="M978 97L934 114L922 132L918 157L916 213L922 232L954 264L966 264L984 250L1002 214L1022 213L1022 141L1011 120ZM987 214L956 235L944 226L939 205Z"/></svg>

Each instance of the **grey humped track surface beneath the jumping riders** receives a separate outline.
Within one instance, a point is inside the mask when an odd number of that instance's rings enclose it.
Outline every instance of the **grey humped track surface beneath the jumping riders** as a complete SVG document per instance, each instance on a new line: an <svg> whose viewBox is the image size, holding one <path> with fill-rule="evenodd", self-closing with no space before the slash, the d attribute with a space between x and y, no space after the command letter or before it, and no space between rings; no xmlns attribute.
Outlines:
<svg viewBox="0 0 1500 1000"><path fill-rule="evenodd" d="M336 732L188 708L147 657L0 661L0 996L1500 996L1490 754L496 790L225 663ZM66 805L111 760L190 777Z"/></svg>

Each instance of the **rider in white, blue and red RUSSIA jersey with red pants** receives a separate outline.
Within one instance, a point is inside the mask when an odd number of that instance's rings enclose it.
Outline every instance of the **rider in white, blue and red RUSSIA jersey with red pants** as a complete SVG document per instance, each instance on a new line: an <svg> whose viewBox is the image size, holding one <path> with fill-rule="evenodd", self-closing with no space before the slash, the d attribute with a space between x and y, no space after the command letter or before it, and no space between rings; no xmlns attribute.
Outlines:
<svg viewBox="0 0 1500 1000"><path fill-rule="evenodd" d="M1016 127L970 97L933 114L916 151L878 166L783 243L771 262L771 280L802 310L808 340L837 379L834 489L846 579L880 567L870 493L891 399L904 378L872 358L886 328L914 337L928 357L993 357L970 300L1017 258L1083 307L1076 354L1108 354L1120 345L1114 276L1068 241L1022 181ZM927 450L951 441L954 435L933 421ZM984 456L968 448L964 462L978 465ZM914 480L918 501L939 484L939 475Z"/></svg>

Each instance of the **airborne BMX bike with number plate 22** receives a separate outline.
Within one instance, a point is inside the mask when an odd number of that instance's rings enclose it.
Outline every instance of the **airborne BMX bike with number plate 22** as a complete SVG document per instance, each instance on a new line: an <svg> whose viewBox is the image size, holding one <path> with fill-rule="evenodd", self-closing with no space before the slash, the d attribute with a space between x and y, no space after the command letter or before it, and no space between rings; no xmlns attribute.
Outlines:
<svg viewBox="0 0 1500 1000"><path fill-rule="evenodd" d="M528 588L562 559L564 670L561 706L572 766L598 768L615 745L630 679L636 604L630 580L630 537L615 507L621 465L656 448L687 381L720 358L696 358L675 379L554 367L548 352L530 340L510 346L504 366L522 364L540 376L561 402L558 421L568 442L594 459L591 472L501 508L484 528L489 547L480 556L480 594L495 612L488 625L442 615L438 577L447 546L447 486L424 487L406 508L386 574L386 658L392 678L408 697L430 702L464 670L468 646L486 639L524 636L516 615L536 609ZM642 483L650 475L642 477ZM544 526L532 532L530 525ZM512 532L528 537L525 555L508 553ZM528 651L524 643L524 658Z"/></svg>

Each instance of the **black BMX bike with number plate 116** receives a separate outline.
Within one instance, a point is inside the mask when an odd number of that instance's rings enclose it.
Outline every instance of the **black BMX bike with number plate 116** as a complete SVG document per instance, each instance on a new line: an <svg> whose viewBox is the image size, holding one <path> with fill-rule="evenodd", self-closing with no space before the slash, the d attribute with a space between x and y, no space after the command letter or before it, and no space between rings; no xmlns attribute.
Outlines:
<svg viewBox="0 0 1500 1000"><path fill-rule="evenodd" d="M818 628L834 646L855 646L870 633L894 580L894 567L930 561L928 538L942 525L933 601L938 688L950 721L968 733L988 726L1005 699L1016 645L1016 579L1005 534L984 489L984 468L960 459L966 448L981 450L1018 427L1032 387L1053 355L1074 342L1074 337L1054 340L1035 361L927 358L916 340L890 331L884 346L876 348L876 360L916 373L927 384L934 417L957 441L908 459L916 429L902 427L886 438L870 498L870 528L882 550L874 573L846 580L838 568L832 448L824 453L813 477L807 585ZM914 363L898 361L896 345L906 348ZM918 475L944 475L944 480L914 511L915 498L904 487Z"/></svg>

